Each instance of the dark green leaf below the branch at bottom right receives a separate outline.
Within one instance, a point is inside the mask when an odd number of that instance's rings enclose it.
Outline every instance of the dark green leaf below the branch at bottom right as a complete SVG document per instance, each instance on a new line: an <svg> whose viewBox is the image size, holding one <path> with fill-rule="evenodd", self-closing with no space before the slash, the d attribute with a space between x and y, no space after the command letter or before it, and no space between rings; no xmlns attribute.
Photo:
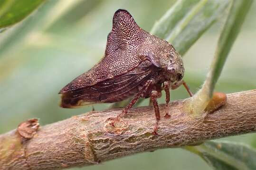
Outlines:
<svg viewBox="0 0 256 170"><path fill-rule="evenodd" d="M256 150L244 144L208 141L185 149L198 154L215 170L256 170Z"/></svg>

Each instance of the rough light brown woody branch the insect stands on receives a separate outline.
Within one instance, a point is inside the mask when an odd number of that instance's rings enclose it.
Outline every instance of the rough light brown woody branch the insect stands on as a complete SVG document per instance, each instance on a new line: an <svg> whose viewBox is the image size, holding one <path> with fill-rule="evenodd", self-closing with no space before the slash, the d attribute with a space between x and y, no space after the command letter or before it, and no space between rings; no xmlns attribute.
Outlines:
<svg viewBox="0 0 256 170"><path fill-rule="evenodd" d="M21 124L18 130L0 135L0 170L92 165L134 153L256 131L256 90L228 94L224 106L198 118L185 113L183 104L184 101L171 103L169 119L163 117L165 108L160 106L157 136L151 133L155 124L151 107L130 110L116 127L109 123L121 109L88 112L39 127L36 133L22 131L21 127L27 124ZM30 123L27 127L36 129L34 119Z"/></svg>

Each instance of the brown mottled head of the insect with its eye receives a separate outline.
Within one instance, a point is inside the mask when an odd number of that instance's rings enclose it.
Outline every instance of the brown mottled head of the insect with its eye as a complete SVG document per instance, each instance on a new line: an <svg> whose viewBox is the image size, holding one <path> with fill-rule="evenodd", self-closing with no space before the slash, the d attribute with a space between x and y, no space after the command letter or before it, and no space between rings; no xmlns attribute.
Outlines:
<svg viewBox="0 0 256 170"><path fill-rule="evenodd" d="M166 67L167 74L171 77L171 81L180 81L184 76L184 66L180 55L170 58Z"/></svg>

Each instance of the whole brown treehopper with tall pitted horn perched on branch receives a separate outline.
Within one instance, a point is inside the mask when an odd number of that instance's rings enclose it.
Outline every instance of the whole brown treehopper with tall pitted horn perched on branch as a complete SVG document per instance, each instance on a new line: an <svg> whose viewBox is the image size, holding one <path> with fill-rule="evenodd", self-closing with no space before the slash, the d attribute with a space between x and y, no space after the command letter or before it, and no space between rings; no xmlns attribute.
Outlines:
<svg viewBox="0 0 256 170"><path fill-rule="evenodd" d="M157 134L160 111L157 98L166 93L165 117L170 117L170 89L184 85L184 66L173 46L142 30L126 10L114 13L104 57L89 71L76 77L61 93L63 108L76 108L100 102L119 102L134 96L114 122L128 112L139 98L151 98Z"/></svg>

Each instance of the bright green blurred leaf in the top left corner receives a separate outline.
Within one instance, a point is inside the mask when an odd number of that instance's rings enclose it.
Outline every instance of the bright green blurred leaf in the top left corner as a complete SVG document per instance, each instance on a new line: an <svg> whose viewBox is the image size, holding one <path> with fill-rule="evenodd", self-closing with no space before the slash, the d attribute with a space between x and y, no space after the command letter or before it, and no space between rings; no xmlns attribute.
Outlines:
<svg viewBox="0 0 256 170"><path fill-rule="evenodd" d="M1 0L0 28L13 25L34 11L45 0Z"/></svg>

